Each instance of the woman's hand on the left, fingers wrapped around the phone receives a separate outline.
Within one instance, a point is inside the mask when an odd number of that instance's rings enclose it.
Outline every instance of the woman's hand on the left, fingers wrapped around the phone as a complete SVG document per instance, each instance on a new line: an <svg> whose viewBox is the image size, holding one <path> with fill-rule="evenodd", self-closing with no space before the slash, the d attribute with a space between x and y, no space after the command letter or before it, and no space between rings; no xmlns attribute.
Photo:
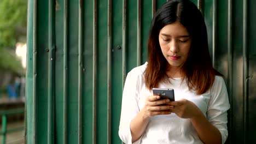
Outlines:
<svg viewBox="0 0 256 144"><path fill-rule="evenodd" d="M167 105L170 103L169 99L161 99L159 95L150 95L146 98L145 106L142 109L144 116L146 118L156 116L156 115L169 115L171 114L172 105Z"/></svg>

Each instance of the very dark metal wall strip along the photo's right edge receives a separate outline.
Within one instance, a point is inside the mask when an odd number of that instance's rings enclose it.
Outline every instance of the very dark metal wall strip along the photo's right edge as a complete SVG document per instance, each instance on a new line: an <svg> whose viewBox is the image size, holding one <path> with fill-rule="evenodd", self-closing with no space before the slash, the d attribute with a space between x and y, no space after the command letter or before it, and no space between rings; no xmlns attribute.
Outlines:
<svg viewBox="0 0 256 144"><path fill-rule="evenodd" d="M256 1L247 1L247 56L248 56L248 121L247 143L256 141Z"/></svg>

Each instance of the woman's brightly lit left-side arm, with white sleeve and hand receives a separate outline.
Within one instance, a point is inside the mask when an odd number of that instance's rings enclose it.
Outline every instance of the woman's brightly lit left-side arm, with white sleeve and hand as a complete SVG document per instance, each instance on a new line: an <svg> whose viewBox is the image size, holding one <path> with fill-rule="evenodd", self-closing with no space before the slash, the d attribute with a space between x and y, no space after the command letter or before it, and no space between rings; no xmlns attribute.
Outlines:
<svg viewBox="0 0 256 144"><path fill-rule="evenodd" d="M139 99L139 83L141 78L136 75L136 71L131 71L127 74L122 106L121 117L119 124L119 137L126 143L131 144L139 139L146 129L149 117L154 115L170 114L170 105L159 106L160 104L166 104L166 100L159 100L159 96L149 96L146 98L145 106L141 110L138 107ZM165 111L168 109L168 111Z"/></svg>

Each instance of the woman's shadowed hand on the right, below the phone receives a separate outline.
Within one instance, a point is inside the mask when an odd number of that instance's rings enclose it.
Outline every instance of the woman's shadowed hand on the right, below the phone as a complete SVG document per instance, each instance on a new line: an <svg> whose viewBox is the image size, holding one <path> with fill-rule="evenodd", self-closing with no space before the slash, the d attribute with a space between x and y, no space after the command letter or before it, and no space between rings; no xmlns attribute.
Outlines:
<svg viewBox="0 0 256 144"><path fill-rule="evenodd" d="M193 118L201 113L201 110L193 102L187 99L170 101L168 105L173 106L171 112L176 113L180 118Z"/></svg>

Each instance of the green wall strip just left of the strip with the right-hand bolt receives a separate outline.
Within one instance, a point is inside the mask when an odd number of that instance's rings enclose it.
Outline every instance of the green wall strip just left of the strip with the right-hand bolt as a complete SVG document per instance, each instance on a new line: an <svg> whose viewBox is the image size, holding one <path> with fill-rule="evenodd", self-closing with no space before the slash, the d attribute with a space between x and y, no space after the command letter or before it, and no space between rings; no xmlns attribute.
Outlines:
<svg viewBox="0 0 256 144"><path fill-rule="evenodd" d="M121 1L119 1L121 2ZM97 143L108 141L108 1L97 1ZM121 22L120 22L121 24ZM121 29L120 29L121 30ZM121 37L121 35L119 35ZM121 61L120 61L121 62ZM104 133L102 133L104 131Z"/></svg>

